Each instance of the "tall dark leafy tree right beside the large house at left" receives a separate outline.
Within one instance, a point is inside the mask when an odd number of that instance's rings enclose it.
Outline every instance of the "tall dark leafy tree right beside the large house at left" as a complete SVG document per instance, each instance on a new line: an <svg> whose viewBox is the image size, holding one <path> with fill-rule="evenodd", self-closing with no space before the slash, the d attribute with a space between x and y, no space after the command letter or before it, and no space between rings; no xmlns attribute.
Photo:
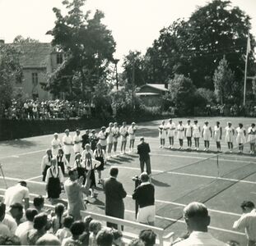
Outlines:
<svg viewBox="0 0 256 246"><path fill-rule="evenodd" d="M97 10L90 18L90 11L84 14L81 10L84 4L85 0L63 1L66 16L54 8L57 21L47 34L54 36L52 44L65 53L65 61L49 77L49 89L55 94L67 90L72 93L79 81L81 97L85 97L86 91L93 91L95 84L106 80L109 62L113 61L115 42L101 22L103 12Z"/></svg>

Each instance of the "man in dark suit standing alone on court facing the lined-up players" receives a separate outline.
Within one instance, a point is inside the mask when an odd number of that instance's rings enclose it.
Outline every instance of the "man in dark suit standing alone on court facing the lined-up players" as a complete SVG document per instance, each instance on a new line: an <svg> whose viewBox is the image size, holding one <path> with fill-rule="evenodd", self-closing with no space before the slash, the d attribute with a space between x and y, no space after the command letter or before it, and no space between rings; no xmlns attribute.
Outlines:
<svg viewBox="0 0 256 246"><path fill-rule="evenodd" d="M147 170L147 175L150 176L151 179L151 163L150 163L150 147L149 144L147 144L144 141L144 138L142 137L140 139L141 144L137 145L137 153L140 156L140 165L141 165L141 171L144 171L144 166L146 164L146 170Z"/></svg>

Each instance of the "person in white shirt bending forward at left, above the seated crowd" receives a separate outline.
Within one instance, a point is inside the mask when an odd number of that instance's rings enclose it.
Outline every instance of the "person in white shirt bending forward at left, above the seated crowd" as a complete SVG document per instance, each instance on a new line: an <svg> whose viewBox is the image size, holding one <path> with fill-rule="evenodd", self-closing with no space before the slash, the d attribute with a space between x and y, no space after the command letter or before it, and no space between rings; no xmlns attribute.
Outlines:
<svg viewBox="0 0 256 246"><path fill-rule="evenodd" d="M30 207L30 192L26 187L26 181L20 181L18 184L9 187L4 194L4 203L8 208L14 203L25 204L25 210Z"/></svg>

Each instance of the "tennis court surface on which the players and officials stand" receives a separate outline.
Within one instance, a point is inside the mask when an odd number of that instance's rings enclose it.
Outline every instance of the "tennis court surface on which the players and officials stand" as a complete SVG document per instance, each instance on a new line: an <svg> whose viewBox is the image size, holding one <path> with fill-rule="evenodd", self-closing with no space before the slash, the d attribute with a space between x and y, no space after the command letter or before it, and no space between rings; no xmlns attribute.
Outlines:
<svg viewBox="0 0 256 246"><path fill-rule="evenodd" d="M187 119L182 119L184 124ZM193 119L192 119L193 120ZM206 118L198 118L203 125ZM239 122L247 129L255 118L207 118L209 125L221 121L223 128L231 121L236 128ZM175 124L179 119L174 119ZM167 121L165 121L167 123ZM211 232L223 241L234 239L245 244L244 233L232 230L232 224L240 217L240 203L251 200L256 204L256 162L255 156L249 155L249 146L244 154L221 153L217 156L216 146L210 144L209 153L203 151L179 151L159 148L158 125L161 121L138 124L137 139L144 136L151 146L152 182L156 188L156 226L165 228L166 234L174 231L175 236L186 230L182 211L186 204L199 201L205 203L212 217ZM71 133L72 135L74 133ZM83 131L81 132L83 134ZM59 134L62 139L63 134ZM45 195L45 185L41 181L40 163L45 149L50 147L53 135L43 135L27 139L0 142L0 162L7 180L7 185L26 180L33 194ZM222 138L224 139L224 138ZM175 139L175 148L179 145ZM202 139L200 148L203 149ZM222 151L226 152L226 143L222 140ZM184 141L184 147L186 147ZM236 144L235 144L236 146ZM119 147L119 146L118 146ZM74 155L72 155L73 162ZM131 198L134 189L133 176L139 175L139 161L136 153L119 155L109 159L103 177L109 176L109 167L119 167L119 180L128 193L125 201L125 218L134 220L134 201ZM97 175L96 181L97 181ZM0 177L0 194L6 186ZM90 198L87 209L91 212L104 213L105 195L100 186L96 188L97 197ZM62 194L63 201L65 194ZM133 230L127 228L127 230Z"/></svg>

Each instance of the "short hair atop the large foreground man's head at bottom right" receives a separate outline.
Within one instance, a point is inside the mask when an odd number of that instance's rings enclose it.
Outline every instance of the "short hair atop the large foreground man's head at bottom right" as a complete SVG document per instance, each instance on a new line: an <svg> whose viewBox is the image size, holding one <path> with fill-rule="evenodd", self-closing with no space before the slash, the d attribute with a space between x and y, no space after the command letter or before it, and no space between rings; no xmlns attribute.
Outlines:
<svg viewBox="0 0 256 246"><path fill-rule="evenodd" d="M207 218L208 210L207 207L198 202L189 203L186 207L184 207L184 217L185 218Z"/></svg>

